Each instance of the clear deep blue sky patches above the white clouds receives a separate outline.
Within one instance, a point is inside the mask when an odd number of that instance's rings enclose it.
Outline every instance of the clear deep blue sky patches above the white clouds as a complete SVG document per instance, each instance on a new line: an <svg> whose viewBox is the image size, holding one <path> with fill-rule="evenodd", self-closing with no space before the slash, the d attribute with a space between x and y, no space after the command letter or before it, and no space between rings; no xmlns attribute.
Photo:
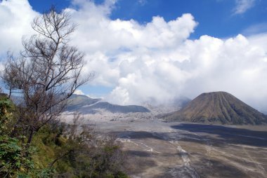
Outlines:
<svg viewBox="0 0 267 178"><path fill-rule="evenodd" d="M245 0L246 1L246 0ZM150 22L152 16L162 16L164 20L174 20L183 13L191 13L199 25L190 37L198 39L207 34L226 38L237 34L253 34L267 30L267 1L252 1L252 6L242 13L235 14L235 0L118 0L110 18ZM103 0L95 1L103 4ZM34 10L46 11L51 4L58 9L72 7L70 0L30 0ZM256 28L258 27L258 28ZM253 32L252 30L254 29Z"/></svg>

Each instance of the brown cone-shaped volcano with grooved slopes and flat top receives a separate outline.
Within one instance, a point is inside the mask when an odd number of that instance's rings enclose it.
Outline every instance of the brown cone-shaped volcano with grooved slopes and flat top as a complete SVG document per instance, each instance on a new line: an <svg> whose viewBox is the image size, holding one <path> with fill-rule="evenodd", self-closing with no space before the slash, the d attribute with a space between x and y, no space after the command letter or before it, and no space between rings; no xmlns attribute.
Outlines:
<svg viewBox="0 0 267 178"><path fill-rule="evenodd" d="M267 117L226 92L203 93L183 109L169 116L167 121L196 123L262 124Z"/></svg>

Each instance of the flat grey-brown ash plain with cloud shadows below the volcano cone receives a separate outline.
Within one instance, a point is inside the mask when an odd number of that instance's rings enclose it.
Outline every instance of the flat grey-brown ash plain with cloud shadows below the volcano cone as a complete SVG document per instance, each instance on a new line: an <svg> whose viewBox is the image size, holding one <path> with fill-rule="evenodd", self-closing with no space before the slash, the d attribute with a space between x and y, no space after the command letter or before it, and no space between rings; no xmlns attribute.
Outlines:
<svg viewBox="0 0 267 178"><path fill-rule="evenodd" d="M98 135L117 135L133 178L266 177L267 125L165 123L157 114L103 111L84 121Z"/></svg>

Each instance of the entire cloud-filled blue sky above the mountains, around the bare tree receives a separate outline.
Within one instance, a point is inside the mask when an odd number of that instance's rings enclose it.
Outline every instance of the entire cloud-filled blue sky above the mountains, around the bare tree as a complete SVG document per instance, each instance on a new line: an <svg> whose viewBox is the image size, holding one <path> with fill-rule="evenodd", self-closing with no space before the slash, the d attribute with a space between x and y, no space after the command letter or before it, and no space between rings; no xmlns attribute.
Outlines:
<svg viewBox="0 0 267 178"><path fill-rule="evenodd" d="M78 24L70 45L85 53L84 72L96 73L80 93L163 104L220 90L267 111L267 1L0 1L0 57L23 49L32 20L52 4L69 8Z"/></svg>

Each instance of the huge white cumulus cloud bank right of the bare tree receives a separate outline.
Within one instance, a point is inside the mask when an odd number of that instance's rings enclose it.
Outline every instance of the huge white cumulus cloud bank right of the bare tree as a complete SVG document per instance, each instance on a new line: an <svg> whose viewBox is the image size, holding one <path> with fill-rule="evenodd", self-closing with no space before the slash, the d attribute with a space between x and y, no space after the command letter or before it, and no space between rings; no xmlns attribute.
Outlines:
<svg viewBox="0 0 267 178"><path fill-rule="evenodd" d="M114 88L106 100L118 104L163 103L179 96L193 98L203 92L224 90L257 109L267 110L266 34L239 34L229 39L204 35L192 40L190 34L197 22L189 13L170 21L155 16L151 22L140 24L135 20L111 20L115 1L100 5L84 0L72 3L76 8L65 11L79 26L71 43L86 53L85 70L96 71L91 85ZM25 6L32 13L30 21L36 13L28 4ZM0 6L0 12L3 9ZM7 27L3 24L1 20L0 29ZM20 29L18 24L8 27ZM23 29L20 38L27 34ZM17 38L14 43L20 41ZM89 94L85 90L83 93Z"/></svg>

